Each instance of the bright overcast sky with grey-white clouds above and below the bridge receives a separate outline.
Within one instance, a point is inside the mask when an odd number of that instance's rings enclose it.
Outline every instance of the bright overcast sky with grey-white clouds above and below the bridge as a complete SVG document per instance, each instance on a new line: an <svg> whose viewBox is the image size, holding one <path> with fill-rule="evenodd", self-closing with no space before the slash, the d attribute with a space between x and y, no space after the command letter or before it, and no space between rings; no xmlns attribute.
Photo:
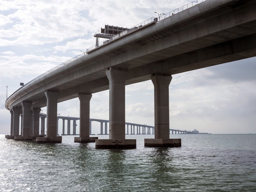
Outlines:
<svg viewBox="0 0 256 192"><path fill-rule="evenodd" d="M167 13L189 2L0 0L0 134L10 133L11 115L4 107L7 85L10 96L20 82L85 51L95 44L94 33L107 24L130 28L157 17L154 12ZM170 128L256 133L255 61L249 58L173 75ZM152 82L128 85L125 91L126 122L154 125ZM90 117L109 119L108 101L108 91L93 94ZM59 103L58 113L79 116L79 100Z"/></svg>

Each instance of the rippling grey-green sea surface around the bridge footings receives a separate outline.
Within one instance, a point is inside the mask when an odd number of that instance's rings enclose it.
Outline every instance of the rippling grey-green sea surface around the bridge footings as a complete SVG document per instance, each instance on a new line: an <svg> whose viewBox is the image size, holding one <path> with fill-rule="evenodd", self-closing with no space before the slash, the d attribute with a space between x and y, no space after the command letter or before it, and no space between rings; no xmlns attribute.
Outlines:
<svg viewBox="0 0 256 192"><path fill-rule="evenodd" d="M137 139L127 150L0 135L0 191L256 191L256 134L170 136L182 147L145 148L153 135L126 135Z"/></svg>

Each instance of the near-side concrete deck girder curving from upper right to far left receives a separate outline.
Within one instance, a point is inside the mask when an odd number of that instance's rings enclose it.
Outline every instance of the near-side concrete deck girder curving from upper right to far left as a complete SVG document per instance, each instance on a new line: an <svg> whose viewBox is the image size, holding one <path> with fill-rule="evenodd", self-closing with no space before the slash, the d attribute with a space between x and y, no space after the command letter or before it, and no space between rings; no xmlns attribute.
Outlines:
<svg viewBox="0 0 256 192"><path fill-rule="evenodd" d="M212 10L210 10L209 6L207 5L209 2L211 2L210 8ZM127 36L117 39L116 41L111 42L110 44L106 44L102 47L99 47L95 49L95 51L90 52L90 54L84 57L81 57L72 63L69 63L69 65L65 65L60 69L57 69L56 71L53 71L52 73L49 73L35 80L30 85L29 84L25 85L19 91L17 91L11 97L10 100L6 101L8 103L6 104L6 108L10 109L10 107L19 106L22 100L28 100L29 98L31 98L31 101L34 102L35 100L38 99L36 98L37 96L34 97L34 95L42 96L42 92L44 92L45 89L54 88L62 91L62 88L66 86L65 85L66 82L72 80L72 78L74 78L73 80L75 80L76 78L76 82L79 82L77 81L78 78L83 79L83 76L86 76L86 78L88 78L87 81L92 81L92 79L94 78L93 75L97 75L97 78L102 78L104 77L104 73L103 73L104 69L111 66L118 65L118 67L126 66L128 68L132 68L132 67L135 67L136 65L129 67L127 66L128 63L131 63L131 62L138 63L136 62L136 60L138 59L147 60L148 58L147 62L154 62L156 60L170 58L177 54L182 54L195 49L200 49L205 46L227 41L228 39L230 39L231 34L233 35L232 38L238 38L240 36L243 36L244 34L241 34L241 33L232 33L232 31L237 29L243 28L246 35L255 33L255 30L253 31L254 25L251 25L252 26L251 29L248 28L248 26L244 28L244 26L247 25L246 23L250 21L254 21L256 19L256 14L253 11L255 9L252 9L253 7L255 7L255 2L250 0L246 1L247 3L249 2L248 4L244 5L247 7L245 8L243 7L243 9L246 10L246 13L245 13L246 17L241 16L242 13L239 7L236 9L235 8L227 9L227 7L225 6L226 3L232 4L235 2L236 1L221 2L216 0L208 0L203 2L202 4L198 4L198 6L194 6L188 9L191 17L190 19L182 20L182 18L184 19L184 17L185 18L187 17L186 15L188 13L187 11L180 12L179 14L175 14L172 17L161 20L154 25L149 25L148 27L141 28L140 30L135 31L134 33L131 33ZM220 7L220 5L223 7ZM202 7L201 10L200 10L200 6ZM198 8L199 8L199 12L198 12ZM197 10L197 11L193 11L193 10ZM203 10L204 10L204 13L202 12ZM211 12L214 13L212 14L212 16L210 15ZM227 16L228 12L229 12L229 15ZM181 16L183 14L185 14L184 17ZM209 16L208 19L204 19L205 15ZM213 20L215 20L215 22L212 22ZM228 24L224 24L224 21L227 21ZM237 23L239 24L242 23L242 24L240 24L240 26L238 27L232 26L234 24L237 25ZM221 24L221 25L216 25L216 24ZM205 26L208 26L208 28L206 28ZM221 26L220 32L213 31L213 29L217 28L216 26ZM155 34L163 30L171 30L172 32L168 34L169 36L167 35L162 41L150 42L149 40L146 40L147 42L145 45L143 45L143 49L140 45L137 45L137 46L131 45L135 41L138 41L141 39L145 40L146 39L145 37L148 37L151 35L150 33ZM216 36L219 37L218 41L216 41ZM105 53L110 52L111 50L115 50L121 46L124 46L124 44L127 44L126 52L119 54L114 58L106 59L106 57L104 56ZM189 44L190 45L196 44L196 46L194 46L194 49L193 49L193 46L191 46L188 49ZM169 54L167 54L166 53L167 50L178 50L178 51L176 52L169 51ZM103 54L103 55L100 55L100 54ZM100 57L98 57L99 55ZM154 57L154 55L157 55L157 57ZM98 58L94 58L94 57L98 57ZM138 59L134 59L135 57L137 57ZM140 63L139 65L143 65L143 63ZM77 70L77 68L79 69ZM51 83L48 83L50 81ZM36 86L37 88L35 88ZM72 86L77 86L77 84L74 84ZM17 95L18 93L20 93L23 96L21 97L18 96ZM14 101L15 99L16 101ZM41 98L41 99L44 100L44 98ZM12 104L10 104L10 102Z"/></svg>

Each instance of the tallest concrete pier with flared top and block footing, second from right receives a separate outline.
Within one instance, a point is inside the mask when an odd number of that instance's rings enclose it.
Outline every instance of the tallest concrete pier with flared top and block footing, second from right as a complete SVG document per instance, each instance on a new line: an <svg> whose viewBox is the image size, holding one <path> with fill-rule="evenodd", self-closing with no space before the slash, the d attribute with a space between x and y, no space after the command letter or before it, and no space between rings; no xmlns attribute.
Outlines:
<svg viewBox="0 0 256 192"><path fill-rule="evenodd" d="M109 140L96 140L96 148L136 148L136 140L125 139L125 79L128 71L109 68Z"/></svg>

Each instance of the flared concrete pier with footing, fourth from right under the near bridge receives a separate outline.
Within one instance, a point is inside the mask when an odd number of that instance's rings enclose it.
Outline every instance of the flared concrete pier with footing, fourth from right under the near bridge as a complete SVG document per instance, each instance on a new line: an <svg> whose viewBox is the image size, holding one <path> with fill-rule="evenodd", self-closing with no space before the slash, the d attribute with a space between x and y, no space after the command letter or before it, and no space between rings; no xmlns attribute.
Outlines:
<svg viewBox="0 0 256 192"><path fill-rule="evenodd" d="M59 91L47 90L44 92L47 100L46 137L37 137L38 143L61 143L62 137L57 137L57 103Z"/></svg>

